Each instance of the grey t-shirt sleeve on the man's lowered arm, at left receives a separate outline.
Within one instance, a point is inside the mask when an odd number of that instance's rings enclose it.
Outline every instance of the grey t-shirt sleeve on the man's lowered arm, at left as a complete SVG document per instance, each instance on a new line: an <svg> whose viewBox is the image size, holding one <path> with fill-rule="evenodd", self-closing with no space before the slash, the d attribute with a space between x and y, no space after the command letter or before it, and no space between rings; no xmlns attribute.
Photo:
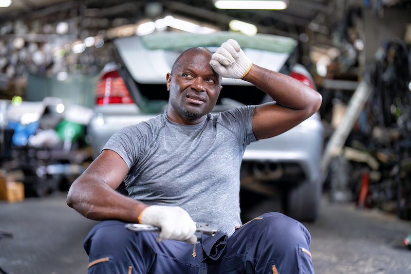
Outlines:
<svg viewBox="0 0 411 274"><path fill-rule="evenodd" d="M131 125L117 131L104 145L103 150L117 152L130 170L146 148L147 134L144 125Z"/></svg>

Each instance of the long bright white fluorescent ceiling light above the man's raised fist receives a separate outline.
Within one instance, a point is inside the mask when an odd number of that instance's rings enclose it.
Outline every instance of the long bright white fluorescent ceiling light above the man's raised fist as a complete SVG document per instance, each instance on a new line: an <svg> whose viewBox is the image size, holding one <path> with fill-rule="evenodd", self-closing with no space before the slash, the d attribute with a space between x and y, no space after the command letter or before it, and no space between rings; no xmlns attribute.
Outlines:
<svg viewBox="0 0 411 274"><path fill-rule="evenodd" d="M217 9L257 9L257 10L283 10L287 8L286 0L214 0Z"/></svg>

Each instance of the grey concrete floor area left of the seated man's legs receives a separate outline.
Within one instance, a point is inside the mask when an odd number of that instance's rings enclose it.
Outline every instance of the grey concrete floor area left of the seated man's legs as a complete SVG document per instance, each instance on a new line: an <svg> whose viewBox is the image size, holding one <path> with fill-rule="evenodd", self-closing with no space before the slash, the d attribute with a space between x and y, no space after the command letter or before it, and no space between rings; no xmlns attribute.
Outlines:
<svg viewBox="0 0 411 274"><path fill-rule="evenodd" d="M0 230L13 234L0 240L0 267L9 274L87 273L82 242L98 222L69 208L65 199L66 193L55 192L22 203L0 202Z"/></svg>

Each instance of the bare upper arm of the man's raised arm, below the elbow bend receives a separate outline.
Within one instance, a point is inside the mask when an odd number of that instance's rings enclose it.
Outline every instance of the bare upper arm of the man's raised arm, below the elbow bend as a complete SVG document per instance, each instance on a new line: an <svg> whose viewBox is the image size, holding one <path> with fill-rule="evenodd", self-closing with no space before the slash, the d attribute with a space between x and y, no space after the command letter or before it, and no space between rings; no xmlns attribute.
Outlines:
<svg viewBox="0 0 411 274"><path fill-rule="evenodd" d="M257 140L286 132L307 118L305 111L292 109L275 102L255 107L253 133Z"/></svg>

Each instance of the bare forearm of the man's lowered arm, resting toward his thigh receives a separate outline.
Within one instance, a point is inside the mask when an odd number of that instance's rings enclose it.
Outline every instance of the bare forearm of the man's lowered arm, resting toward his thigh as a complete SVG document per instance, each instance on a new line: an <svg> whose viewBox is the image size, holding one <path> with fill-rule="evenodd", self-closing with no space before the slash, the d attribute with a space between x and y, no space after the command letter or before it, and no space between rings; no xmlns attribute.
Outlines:
<svg viewBox="0 0 411 274"><path fill-rule="evenodd" d="M117 219L138 222L138 216L147 206L126 197L104 182L79 178L71 185L67 205L92 220Z"/></svg>

